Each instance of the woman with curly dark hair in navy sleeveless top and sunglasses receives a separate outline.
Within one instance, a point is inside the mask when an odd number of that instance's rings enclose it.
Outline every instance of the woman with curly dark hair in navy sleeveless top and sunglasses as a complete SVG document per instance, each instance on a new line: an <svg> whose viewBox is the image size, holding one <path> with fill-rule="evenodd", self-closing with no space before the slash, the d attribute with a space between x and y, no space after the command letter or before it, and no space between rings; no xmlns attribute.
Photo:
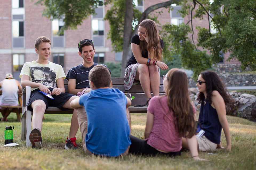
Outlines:
<svg viewBox="0 0 256 170"><path fill-rule="evenodd" d="M230 102L225 85L219 76L213 71L203 71L197 80L199 95L197 100L201 103L198 123L203 135L197 138L199 151L214 151L221 147L221 130L223 128L227 150L231 150L229 125L226 118L225 104ZM199 132L200 133L200 132ZM182 146L188 148L185 139Z"/></svg>

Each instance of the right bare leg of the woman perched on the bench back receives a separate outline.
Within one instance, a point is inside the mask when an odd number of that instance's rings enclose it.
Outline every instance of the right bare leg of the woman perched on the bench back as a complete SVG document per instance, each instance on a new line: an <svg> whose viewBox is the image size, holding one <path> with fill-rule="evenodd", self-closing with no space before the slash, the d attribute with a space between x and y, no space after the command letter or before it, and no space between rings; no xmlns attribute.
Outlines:
<svg viewBox="0 0 256 170"><path fill-rule="evenodd" d="M160 74L158 72L158 66L150 65L148 67L149 67L150 86L153 92L153 96L158 96L159 86L160 86Z"/></svg>

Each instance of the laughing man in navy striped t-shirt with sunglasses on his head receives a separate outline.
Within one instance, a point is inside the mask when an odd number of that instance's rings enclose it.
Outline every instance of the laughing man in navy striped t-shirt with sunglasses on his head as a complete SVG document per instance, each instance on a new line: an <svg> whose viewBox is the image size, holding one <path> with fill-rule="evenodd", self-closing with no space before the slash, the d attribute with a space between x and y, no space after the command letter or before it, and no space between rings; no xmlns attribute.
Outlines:
<svg viewBox="0 0 256 170"><path fill-rule="evenodd" d="M79 50L78 54L80 57L83 58L83 62L78 66L72 67L67 73L66 79L69 81L68 83L69 93L73 95L81 96L82 94L88 93L91 90L89 86L89 79L88 79L89 71L98 64L93 62L95 49L94 49L92 40L83 39L82 41L80 41L78 43L78 50ZM109 72L111 74L110 70ZM111 81L110 87L112 87L112 81ZM78 109L77 112L85 113L85 109L84 108ZM77 119L75 121L76 121L76 128L73 130L74 133L76 133L78 130ZM70 139L67 138L65 148L67 150L71 148L75 148L76 147L75 140L76 140L75 137Z"/></svg>

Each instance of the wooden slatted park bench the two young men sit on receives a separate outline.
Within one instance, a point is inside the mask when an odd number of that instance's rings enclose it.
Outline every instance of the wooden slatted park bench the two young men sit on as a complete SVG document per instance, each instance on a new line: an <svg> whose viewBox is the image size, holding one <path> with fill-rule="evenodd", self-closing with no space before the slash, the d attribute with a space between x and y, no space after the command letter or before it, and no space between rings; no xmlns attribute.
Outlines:
<svg viewBox="0 0 256 170"><path fill-rule="evenodd" d="M129 90L124 90L124 79L122 77L113 77L112 83L113 88L118 88L125 94L130 92L131 96L134 96L135 98L131 101L131 106L128 108L130 113L146 113L147 112L147 106L143 107L134 107L137 105L145 105L146 104L146 97L145 94L141 88L140 84L132 86ZM64 79L64 86L65 90L68 93L68 81ZM26 86L23 89L22 92L22 127L21 127L21 139L26 140L26 146L30 146L29 141L29 134L31 132L31 111L27 109L27 103L30 98L30 87ZM160 78L160 95L164 94L163 92L163 78ZM45 111L45 114L73 114L73 110L69 109L67 111L62 111L57 107L48 107Z"/></svg>

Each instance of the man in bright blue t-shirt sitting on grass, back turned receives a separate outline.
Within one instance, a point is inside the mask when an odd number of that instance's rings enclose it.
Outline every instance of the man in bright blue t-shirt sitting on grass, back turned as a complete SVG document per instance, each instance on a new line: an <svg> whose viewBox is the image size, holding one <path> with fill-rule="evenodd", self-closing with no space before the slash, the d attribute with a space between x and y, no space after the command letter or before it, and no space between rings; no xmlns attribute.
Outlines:
<svg viewBox="0 0 256 170"><path fill-rule="evenodd" d="M91 91L71 102L71 107L78 109L84 106L86 110L85 114L77 113L77 119L87 154L125 156L131 145L126 114L131 100L122 91L109 88L110 82L106 67L93 67L89 72Z"/></svg>

